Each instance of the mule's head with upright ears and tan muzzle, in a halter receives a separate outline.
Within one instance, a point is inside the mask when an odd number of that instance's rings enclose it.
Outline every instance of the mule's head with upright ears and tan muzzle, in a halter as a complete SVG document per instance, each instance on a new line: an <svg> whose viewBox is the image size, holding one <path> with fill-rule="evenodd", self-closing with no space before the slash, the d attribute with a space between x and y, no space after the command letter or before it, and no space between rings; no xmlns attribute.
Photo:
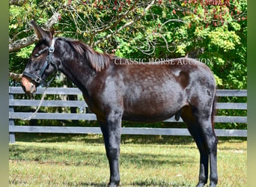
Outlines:
<svg viewBox="0 0 256 187"><path fill-rule="evenodd" d="M23 72L22 88L25 93L34 93L39 85L48 86L46 79L57 69L53 32L43 30L34 21L31 21L31 26L39 42L34 47Z"/></svg>

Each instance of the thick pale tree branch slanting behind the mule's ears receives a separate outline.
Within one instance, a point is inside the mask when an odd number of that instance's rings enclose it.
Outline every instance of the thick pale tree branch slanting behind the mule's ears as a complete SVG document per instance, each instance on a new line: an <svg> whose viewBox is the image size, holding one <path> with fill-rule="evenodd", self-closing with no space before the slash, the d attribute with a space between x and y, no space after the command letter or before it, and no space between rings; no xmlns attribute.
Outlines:
<svg viewBox="0 0 256 187"><path fill-rule="evenodd" d="M43 27L47 30L51 29L55 23L58 22L58 16L60 13L56 12L52 15L52 17L46 22ZM24 37L20 40L15 40L13 43L9 43L9 52L13 52L19 49L22 49L26 46L30 46L31 44L35 43L38 40L37 36L35 34L32 34L28 37Z"/></svg>

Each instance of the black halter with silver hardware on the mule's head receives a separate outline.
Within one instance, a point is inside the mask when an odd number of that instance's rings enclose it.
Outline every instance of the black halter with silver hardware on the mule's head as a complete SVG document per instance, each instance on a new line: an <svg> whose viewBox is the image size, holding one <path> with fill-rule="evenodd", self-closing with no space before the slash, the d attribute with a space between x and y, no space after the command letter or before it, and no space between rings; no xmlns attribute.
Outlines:
<svg viewBox="0 0 256 187"><path fill-rule="evenodd" d="M43 85L43 86L46 86L46 87L48 87L51 84L51 82L53 81L53 79L55 77L52 77L52 79L50 79L49 82L46 82L45 80L42 79L42 76L43 76L43 73L45 73L46 69L49 67L50 64L55 68L56 72L58 72L58 67L55 64L55 62L53 61L53 52L55 50L55 48L54 48L55 40L56 40L56 38L53 37L52 38L52 44L49 47L49 54L46 57L46 61L43 64L43 67L40 70L40 73L38 75L33 75L31 73L27 73L27 72L24 71L23 72L23 76L27 76L30 79L32 79L34 82L37 82L40 85Z"/></svg>

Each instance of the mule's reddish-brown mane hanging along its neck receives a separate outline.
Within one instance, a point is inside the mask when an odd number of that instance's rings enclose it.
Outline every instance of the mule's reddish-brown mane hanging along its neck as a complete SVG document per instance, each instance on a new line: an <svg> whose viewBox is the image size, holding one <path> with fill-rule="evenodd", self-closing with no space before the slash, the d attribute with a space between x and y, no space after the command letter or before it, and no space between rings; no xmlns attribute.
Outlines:
<svg viewBox="0 0 256 187"><path fill-rule="evenodd" d="M112 55L96 52L94 51L94 49L91 49L90 46L82 43L82 41L79 40L72 40L67 38L65 38L64 40L70 44L75 52L78 52L80 55L85 56L85 59L97 72L105 70L107 67L109 67Z"/></svg>

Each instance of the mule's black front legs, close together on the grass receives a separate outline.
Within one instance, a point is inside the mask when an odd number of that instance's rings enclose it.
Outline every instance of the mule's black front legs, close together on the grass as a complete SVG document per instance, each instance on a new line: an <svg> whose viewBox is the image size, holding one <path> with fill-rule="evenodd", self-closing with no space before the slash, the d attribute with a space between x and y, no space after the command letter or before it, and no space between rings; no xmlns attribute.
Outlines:
<svg viewBox="0 0 256 187"><path fill-rule="evenodd" d="M106 123L100 124L106 147L106 155L109 159L110 179L109 186L119 186L119 155L121 141L121 114L110 114Z"/></svg>

